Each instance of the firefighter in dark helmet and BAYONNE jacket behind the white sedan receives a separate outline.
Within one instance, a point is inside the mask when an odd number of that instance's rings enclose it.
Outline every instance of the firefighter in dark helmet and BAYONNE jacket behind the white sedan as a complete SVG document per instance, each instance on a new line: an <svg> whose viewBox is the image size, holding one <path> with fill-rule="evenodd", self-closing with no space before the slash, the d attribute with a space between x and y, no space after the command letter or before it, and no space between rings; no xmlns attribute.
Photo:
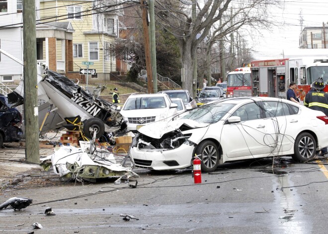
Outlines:
<svg viewBox="0 0 328 234"><path fill-rule="evenodd" d="M304 105L313 110L319 110L328 116L328 93L325 93L323 89L325 88L325 83L323 78L318 78L312 83L312 92L306 94L304 98ZM327 148L321 149L319 156L327 154Z"/></svg>

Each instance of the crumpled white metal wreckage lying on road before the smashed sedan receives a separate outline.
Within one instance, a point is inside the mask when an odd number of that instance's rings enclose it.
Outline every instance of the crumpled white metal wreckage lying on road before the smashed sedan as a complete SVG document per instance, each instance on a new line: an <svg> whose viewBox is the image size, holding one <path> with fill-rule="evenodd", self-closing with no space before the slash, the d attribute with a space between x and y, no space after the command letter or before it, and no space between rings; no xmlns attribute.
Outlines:
<svg viewBox="0 0 328 234"><path fill-rule="evenodd" d="M119 177L119 180L127 180L130 177L139 177L131 170L131 167L122 166L116 162L113 154L106 149L94 147L94 142L80 141L81 148L74 146L62 146L55 149L54 154L43 158L40 165L49 170L51 166L54 172L63 178L87 180L95 182L97 178Z"/></svg>

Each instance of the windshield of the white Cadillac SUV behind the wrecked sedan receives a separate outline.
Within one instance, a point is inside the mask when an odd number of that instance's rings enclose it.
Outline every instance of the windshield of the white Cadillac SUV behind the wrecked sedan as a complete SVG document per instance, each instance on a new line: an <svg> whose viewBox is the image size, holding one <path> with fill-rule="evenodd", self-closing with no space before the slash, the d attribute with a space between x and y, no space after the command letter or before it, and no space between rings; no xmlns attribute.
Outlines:
<svg viewBox="0 0 328 234"><path fill-rule="evenodd" d="M158 109L165 107L164 97L134 97L126 100L123 110Z"/></svg>

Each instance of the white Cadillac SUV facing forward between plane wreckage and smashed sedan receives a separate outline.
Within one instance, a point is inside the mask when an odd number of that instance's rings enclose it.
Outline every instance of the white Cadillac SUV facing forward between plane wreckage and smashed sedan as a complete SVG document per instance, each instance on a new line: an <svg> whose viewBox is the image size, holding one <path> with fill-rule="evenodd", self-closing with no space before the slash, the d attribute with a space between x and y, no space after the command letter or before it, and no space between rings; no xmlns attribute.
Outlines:
<svg viewBox="0 0 328 234"><path fill-rule="evenodd" d="M127 121L127 130L136 133L146 124L173 119L177 115L177 104L165 93L131 94L120 113Z"/></svg>

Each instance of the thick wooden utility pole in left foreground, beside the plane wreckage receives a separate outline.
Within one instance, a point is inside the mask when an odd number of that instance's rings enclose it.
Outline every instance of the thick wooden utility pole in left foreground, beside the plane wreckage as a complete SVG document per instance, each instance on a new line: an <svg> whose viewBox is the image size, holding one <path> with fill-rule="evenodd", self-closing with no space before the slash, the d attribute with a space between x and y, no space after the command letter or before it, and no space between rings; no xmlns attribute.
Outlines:
<svg viewBox="0 0 328 234"><path fill-rule="evenodd" d="M26 161L40 163L35 0L23 1L24 119Z"/></svg>

